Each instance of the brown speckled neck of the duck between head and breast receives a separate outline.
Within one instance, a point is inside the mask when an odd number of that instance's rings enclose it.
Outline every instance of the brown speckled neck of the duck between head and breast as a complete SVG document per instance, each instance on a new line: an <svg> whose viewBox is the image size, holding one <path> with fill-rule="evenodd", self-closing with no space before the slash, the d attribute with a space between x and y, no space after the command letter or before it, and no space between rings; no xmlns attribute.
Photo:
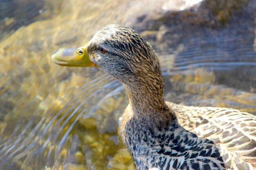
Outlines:
<svg viewBox="0 0 256 170"><path fill-rule="evenodd" d="M128 93L130 107L135 117L148 117L162 113L166 108L164 102L164 81L161 71L155 75L137 77L132 85L124 84Z"/></svg>

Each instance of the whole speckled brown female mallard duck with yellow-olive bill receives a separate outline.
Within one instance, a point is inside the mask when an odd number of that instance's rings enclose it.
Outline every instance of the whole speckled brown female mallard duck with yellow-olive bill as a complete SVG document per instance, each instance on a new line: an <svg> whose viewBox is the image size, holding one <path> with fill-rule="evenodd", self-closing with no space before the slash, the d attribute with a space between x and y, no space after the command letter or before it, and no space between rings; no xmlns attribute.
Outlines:
<svg viewBox="0 0 256 170"><path fill-rule="evenodd" d="M84 46L58 50L52 60L97 66L124 85L129 104L121 137L137 170L256 169L256 117L165 101L157 55L133 29L106 26Z"/></svg>

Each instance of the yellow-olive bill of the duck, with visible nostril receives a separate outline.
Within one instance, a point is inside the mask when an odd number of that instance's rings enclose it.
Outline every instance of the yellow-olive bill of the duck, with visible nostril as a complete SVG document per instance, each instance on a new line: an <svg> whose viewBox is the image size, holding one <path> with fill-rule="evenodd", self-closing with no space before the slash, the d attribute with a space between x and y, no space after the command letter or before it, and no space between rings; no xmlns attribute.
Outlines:
<svg viewBox="0 0 256 170"><path fill-rule="evenodd" d="M52 55L52 61L61 66L70 67L91 67L96 66L91 60L87 52L88 45L76 48L58 49Z"/></svg>

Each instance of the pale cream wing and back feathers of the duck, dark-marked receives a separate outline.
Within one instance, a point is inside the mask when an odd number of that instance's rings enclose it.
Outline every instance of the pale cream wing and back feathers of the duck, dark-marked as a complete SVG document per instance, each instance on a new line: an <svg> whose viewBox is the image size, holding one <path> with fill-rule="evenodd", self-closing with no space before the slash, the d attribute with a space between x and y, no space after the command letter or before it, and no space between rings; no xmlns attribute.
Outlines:
<svg viewBox="0 0 256 170"><path fill-rule="evenodd" d="M219 146L228 167L256 168L256 116L231 108L166 104L183 128Z"/></svg>

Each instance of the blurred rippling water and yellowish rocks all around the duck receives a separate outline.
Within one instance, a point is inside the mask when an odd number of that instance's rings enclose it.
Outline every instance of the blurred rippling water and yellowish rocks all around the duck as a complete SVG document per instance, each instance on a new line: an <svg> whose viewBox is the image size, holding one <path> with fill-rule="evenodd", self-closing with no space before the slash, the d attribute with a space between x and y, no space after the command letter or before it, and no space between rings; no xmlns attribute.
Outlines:
<svg viewBox="0 0 256 170"><path fill-rule="evenodd" d="M166 100L256 115L255 0L0 0L1 170L135 170L122 84L51 61L108 24L153 46Z"/></svg>

